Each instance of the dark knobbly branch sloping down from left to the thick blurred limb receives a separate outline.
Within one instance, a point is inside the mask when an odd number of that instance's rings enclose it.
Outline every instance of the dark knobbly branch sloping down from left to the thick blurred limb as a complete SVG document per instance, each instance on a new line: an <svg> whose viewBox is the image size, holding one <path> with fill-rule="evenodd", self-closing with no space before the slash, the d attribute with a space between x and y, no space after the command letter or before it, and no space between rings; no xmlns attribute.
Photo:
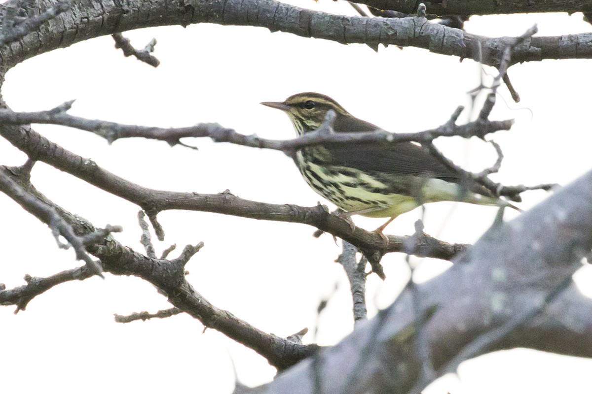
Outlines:
<svg viewBox="0 0 592 394"><path fill-rule="evenodd" d="M6 177L10 178L11 174L7 174ZM28 193L30 198L42 201L52 210L59 211L62 220L72 227L73 232L79 237L94 240L92 245L86 245L86 249L101 260L105 272L111 272L114 275L134 275L150 282L162 294L168 295L168 301L176 308L197 318L205 327L214 328L238 343L257 351L278 369L285 369L318 349L316 344L303 345L294 338L281 338L265 333L230 312L218 309L195 291L185 279L185 265L203 247L203 243L185 246L181 255L175 259L149 258L121 245L113 237L103 235L100 240L96 239L97 232L85 219L74 216L47 200L34 188L28 190ZM26 286L8 291L2 285L0 286L0 304L17 304L17 311L22 310L36 295L56 284L89 275L88 271L88 268L80 268L62 272L50 278L27 276L25 280L29 280Z"/></svg>

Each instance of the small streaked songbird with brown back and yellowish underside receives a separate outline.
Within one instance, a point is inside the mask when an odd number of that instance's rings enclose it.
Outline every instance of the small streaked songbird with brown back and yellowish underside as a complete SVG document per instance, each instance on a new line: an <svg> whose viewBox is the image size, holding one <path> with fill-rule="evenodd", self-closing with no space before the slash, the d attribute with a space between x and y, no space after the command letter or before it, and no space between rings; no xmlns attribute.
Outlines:
<svg viewBox="0 0 592 394"><path fill-rule="evenodd" d="M335 132L381 130L318 93L298 93L284 102L262 104L284 111L299 136L318 129L331 109L336 114ZM517 209L413 142L308 146L296 152L294 161L308 185L344 210L347 217L390 217L374 230L382 237L395 217L424 203L462 201Z"/></svg>

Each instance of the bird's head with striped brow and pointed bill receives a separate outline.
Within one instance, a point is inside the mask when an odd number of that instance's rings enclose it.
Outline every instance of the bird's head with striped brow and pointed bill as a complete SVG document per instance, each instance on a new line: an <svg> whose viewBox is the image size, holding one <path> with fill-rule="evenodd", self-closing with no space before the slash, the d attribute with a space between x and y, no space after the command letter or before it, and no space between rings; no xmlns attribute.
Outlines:
<svg viewBox="0 0 592 394"><path fill-rule="evenodd" d="M318 129L330 109L335 111L337 117L352 116L331 97L319 93L298 93L289 96L284 102L263 102L262 104L284 111L298 135Z"/></svg>

